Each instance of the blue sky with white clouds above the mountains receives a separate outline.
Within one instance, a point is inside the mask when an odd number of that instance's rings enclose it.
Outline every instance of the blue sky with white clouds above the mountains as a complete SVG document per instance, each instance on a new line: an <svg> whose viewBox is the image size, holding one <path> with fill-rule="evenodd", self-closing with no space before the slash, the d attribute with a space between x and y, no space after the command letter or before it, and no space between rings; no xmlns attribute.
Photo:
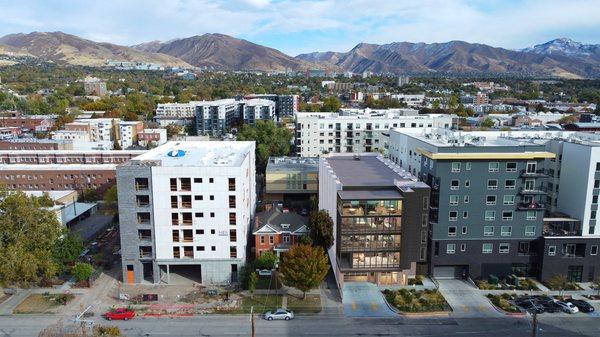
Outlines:
<svg viewBox="0 0 600 337"><path fill-rule="evenodd" d="M0 0L0 35L62 31L133 45L222 33L295 56L360 42L600 44L600 0Z"/></svg>

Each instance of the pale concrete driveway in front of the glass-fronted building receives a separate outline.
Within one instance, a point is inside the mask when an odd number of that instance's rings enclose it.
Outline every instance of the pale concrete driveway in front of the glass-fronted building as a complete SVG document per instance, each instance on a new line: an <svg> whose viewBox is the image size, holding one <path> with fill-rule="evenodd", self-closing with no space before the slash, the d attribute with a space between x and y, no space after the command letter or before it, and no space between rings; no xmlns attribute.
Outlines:
<svg viewBox="0 0 600 337"><path fill-rule="evenodd" d="M379 288L368 282L347 282L342 290L344 315L347 317L398 317Z"/></svg>

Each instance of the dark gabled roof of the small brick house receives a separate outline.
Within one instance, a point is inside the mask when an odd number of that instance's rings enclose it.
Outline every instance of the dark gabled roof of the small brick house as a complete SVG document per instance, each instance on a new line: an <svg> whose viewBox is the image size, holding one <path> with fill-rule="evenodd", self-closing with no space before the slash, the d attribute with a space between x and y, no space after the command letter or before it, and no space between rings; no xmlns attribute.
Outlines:
<svg viewBox="0 0 600 337"><path fill-rule="evenodd" d="M285 225L287 228L284 228ZM252 234L282 232L305 233L308 232L308 217L296 213L283 212L279 208L272 208L256 215L256 224Z"/></svg>

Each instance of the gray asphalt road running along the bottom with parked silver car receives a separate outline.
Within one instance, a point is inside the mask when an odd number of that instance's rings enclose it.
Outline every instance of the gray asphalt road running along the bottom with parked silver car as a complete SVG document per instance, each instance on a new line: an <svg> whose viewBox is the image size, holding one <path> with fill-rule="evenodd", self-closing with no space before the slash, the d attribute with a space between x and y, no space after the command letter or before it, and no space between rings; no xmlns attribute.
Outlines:
<svg viewBox="0 0 600 337"><path fill-rule="evenodd" d="M0 337L35 337L56 316L2 316ZM72 318L63 318L64 322ZM97 319L100 322L100 319ZM117 325L126 336L250 336L248 316L211 315L194 318L136 318ZM587 315L542 315L538 336L600 336L600 318ZM256 319L256 336L531 336L530 319L524 318L345 318L300 316L292 321Z"/></svg>

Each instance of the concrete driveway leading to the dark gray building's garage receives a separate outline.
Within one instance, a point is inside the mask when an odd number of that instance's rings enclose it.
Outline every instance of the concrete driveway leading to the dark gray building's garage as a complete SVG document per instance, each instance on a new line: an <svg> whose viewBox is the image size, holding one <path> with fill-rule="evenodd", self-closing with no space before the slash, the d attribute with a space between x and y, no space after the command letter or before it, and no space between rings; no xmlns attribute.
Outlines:
<svg viewBox="0 0 600 337"><path fill-rule="evenodd" d="M479 289L462 280L437 280L455 317L503 317Z"/></svg>

